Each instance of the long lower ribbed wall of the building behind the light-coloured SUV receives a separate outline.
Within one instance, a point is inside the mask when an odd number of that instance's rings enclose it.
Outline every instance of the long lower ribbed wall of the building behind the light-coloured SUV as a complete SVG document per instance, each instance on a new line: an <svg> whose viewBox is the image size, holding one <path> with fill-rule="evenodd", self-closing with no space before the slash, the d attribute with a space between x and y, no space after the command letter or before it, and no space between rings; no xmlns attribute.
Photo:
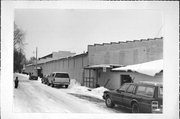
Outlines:
<svg viewBox="0 0 180 119"><path fill-rule="evenodd" d="M39 64L42 67L43 75L48 75L52 72L68 72L71 79L76 79L78 82L83 81L83 67L88 65L87 54L82 54L74 57L63 58ZM34 66L27 66L26 71L32 72Z"/></svg>

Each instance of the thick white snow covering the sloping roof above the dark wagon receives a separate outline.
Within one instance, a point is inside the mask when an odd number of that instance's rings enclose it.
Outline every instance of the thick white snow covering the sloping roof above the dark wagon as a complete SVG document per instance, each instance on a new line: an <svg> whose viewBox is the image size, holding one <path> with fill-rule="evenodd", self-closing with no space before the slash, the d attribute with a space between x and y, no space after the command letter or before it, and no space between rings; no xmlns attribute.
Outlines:
<svg viewBox="0 0 180 119"><path fill-rule="evenodd" d="M128 65L125 67L113 68L113 71L132 71L150 76L155 76L157 73L163 71L163 60L154 60L146 63Z"/></svg>

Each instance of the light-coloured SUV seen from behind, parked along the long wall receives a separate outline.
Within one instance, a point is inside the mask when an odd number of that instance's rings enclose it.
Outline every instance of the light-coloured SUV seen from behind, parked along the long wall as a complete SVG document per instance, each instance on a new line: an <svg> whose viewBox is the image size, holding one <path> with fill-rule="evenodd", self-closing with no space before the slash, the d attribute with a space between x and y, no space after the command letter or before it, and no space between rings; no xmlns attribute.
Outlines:
<svg viewBox="0 0 180 119"><path fill-rule="evenodd" d="M48 85L54 87L55 85L61 85L68 88L70 84L69 74L66 72L53 72L48 77Z"/></svg>

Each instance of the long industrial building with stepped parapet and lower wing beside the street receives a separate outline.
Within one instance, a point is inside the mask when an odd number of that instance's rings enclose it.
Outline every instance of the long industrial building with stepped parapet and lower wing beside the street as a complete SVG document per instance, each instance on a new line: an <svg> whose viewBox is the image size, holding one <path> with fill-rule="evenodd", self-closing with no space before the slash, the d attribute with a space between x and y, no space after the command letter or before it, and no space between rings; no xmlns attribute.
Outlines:
<svg viewBox="0 0 180 119"><path fill-rule="evenodd" d="M61 54L62 52L59 52ZM57 55L57 54L56 54ZM109 89L119 88L122 81L131 81L132 75L143 76L149 80L157 78L162 82L163 69L157 75L149 76L132 70L114 70L119 67L142 64L163 59L163 38L141 39L126 42L111 42L88 45L88 51L82 54L68 53L63 57L38 60L38 70L43 75L54 71L68 72L70 78L76 79L88 87L104 86ZM61 55L62 56L62 55ZM26 72L31 72L34 64L26 66ZM135 78L138 79L138 78ZM143 79L143 78L142 78ZM126 82L125 81L125 82ZM155 80L156 81L156 80Z"/></svg>

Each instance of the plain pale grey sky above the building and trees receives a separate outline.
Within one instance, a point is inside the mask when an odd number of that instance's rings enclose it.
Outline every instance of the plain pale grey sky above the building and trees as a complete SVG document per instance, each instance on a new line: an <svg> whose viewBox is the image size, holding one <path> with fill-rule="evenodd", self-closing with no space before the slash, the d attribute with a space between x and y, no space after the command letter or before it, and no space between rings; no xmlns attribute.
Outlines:
<svg viewBox="0 0 180 119"><path fill-rule="evenodd" d="M15 23L26 32L26 57L52 52L82 53L87 45L162 36L155 10L17 9Z"/></svg>

